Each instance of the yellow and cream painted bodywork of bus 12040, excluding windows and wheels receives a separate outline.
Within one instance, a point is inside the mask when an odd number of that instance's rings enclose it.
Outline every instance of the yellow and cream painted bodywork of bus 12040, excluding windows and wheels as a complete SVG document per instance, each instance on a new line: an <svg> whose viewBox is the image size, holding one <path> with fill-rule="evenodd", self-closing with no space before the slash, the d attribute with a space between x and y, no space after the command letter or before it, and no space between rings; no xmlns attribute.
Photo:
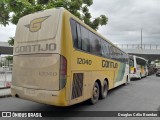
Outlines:
<svg viewBox="0 0 160 120"><path fill-rule="evenodd" d="M108 81L109 89L126 82L129 74L127 64L91 55L73 47L71 18L98 34L63 8L34 13L20 19L14 46L12 96L49 105L69 106L91 98L96 80L100 81L101 87L104 80ZM41 24L37 25L36 21L39 20ZM37 28L32 28L33 24ZM34 43L37 51L31 52L28 45L33 50ZM47 46L51 47L51 51L45 51ZM67 60L66 85L61 90L58 89L60 55ZM77 64L78 59L88 60L91 64ZM102 61L113 62L117 64L117 68L102 67ZM83 73L83 90L82 96L72 99L75 73Z"/></svg>

